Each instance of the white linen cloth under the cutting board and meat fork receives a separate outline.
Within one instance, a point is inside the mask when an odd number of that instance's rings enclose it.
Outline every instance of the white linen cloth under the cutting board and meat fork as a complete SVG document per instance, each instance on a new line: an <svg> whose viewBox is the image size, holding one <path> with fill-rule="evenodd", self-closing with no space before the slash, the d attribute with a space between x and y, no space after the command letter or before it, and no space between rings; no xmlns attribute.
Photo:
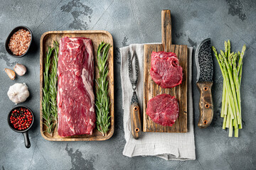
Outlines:
<svg viewBox="0 0 256 170"><path fill-rule="evenodd" d="M131 119L129 107L132 100L132 84L128 72L128 51L133 55L137 52L139 60L139 80L137 83L137 96L142 115L143 103L143 63L144 44L132 44L120 48L121 52L121 84L122 84L122 108L124 109L124 138L126 144L123 154L127 157L156 156L166 160L194 160L196 159L196 147L193 132L193 98L192 98L192 47L188 47L188 132L142 132L142 137L134 140L131 133Z"/></svg>

